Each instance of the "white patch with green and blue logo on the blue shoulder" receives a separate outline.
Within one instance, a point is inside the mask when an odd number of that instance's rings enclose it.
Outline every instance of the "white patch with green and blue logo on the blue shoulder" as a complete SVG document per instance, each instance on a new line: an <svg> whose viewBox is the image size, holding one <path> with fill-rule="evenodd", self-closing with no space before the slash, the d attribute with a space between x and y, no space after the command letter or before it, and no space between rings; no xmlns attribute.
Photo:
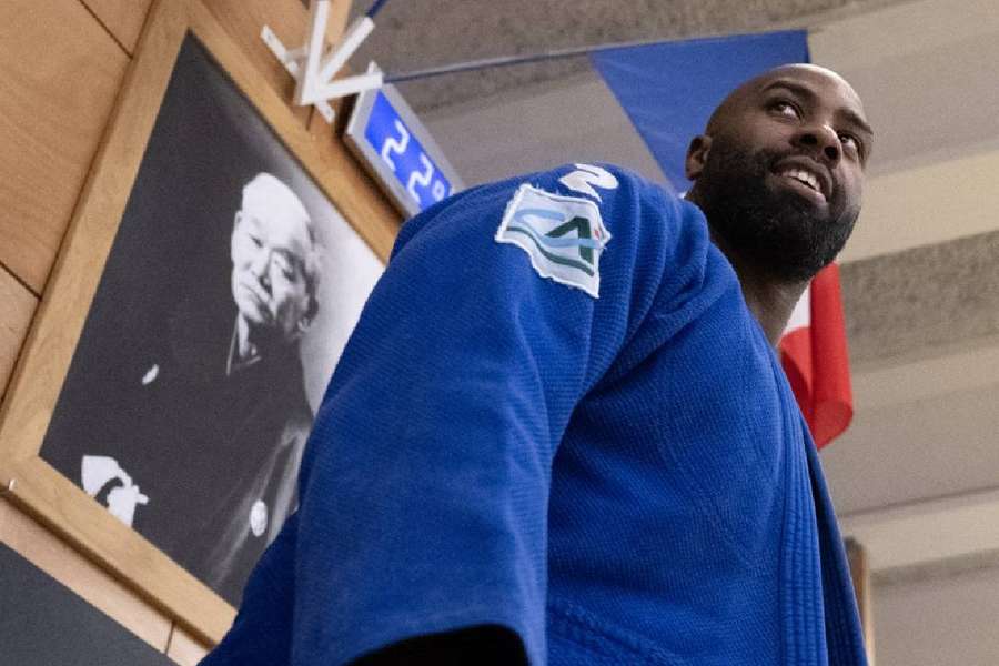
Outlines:
<svg viewBox="0 0 999 666"><path fill-rule="evenodd" d="M601 253L610 241L601 209L524 184L506 204L497 243L524 250L542 278L601 295Z"/></svg>

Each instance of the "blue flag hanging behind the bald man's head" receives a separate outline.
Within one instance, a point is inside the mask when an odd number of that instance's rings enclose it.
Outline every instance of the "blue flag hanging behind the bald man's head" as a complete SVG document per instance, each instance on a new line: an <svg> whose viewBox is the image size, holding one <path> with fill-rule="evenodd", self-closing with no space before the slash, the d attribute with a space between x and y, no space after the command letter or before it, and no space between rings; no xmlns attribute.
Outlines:
<svg viewBox="0 0 999 666"><path fill-rule="evenodd" d="M625 47L591 60L669 183L685 191L687 145L704 132L715 107L756 74L808 62L808 42L804 30L794 30Z"/></svg>

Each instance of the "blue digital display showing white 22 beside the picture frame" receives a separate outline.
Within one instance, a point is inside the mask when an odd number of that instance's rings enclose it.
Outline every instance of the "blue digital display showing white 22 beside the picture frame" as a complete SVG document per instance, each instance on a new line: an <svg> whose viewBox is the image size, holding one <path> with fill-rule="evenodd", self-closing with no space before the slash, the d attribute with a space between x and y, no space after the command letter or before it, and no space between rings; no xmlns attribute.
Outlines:
<svg viewBox="0 0 999 666"><path fill-rule="evenodd" d="M461 189L426 129L391 85L359 99L346 139L410 214Z"/></svg>

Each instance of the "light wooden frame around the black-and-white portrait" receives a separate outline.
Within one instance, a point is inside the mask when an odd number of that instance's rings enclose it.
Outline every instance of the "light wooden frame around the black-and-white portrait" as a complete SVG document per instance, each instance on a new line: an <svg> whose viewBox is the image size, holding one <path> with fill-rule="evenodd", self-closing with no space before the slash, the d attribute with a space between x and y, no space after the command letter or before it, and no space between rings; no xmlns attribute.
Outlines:
<svg viewBox="0 0 999 666"><path fill-rule="evenodd" d="M193 38L382 262L400 219L329 132L310 131L195 0L150 10L120 98L0 408L0 492L192 636L216 643L233 607L40 455L185 40Z"/></svg>

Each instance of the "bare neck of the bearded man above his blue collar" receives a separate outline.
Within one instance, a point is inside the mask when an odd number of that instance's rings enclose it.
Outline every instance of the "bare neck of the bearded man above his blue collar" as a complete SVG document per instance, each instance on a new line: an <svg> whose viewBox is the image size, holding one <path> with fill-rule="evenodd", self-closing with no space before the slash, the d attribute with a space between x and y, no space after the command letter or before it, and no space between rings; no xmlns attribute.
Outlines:
<svg viewBox="0 0 999 666"><path fill-rule="evenodd" d="M787 282L774 279L728 246L714 230L712 241L735 269L746 305L759 322L770 345L776 349L795 305L808 286L808 281Z"/></svg>

